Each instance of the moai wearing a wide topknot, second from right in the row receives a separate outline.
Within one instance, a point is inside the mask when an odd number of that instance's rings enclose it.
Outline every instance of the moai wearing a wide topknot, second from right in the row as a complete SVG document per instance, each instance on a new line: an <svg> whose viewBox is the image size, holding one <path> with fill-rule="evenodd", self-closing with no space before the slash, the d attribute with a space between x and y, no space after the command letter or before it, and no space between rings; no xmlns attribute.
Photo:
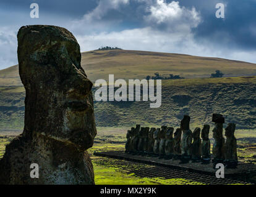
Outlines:
<svg viewBox="0 0 256 197"><path fill-rule="evenodd" d="M213 168L218 163L223 163L224 161L224 137L223 137L223 123L224 117L219 114L213 114L213 123L215 127L213 129Z"/></svg>

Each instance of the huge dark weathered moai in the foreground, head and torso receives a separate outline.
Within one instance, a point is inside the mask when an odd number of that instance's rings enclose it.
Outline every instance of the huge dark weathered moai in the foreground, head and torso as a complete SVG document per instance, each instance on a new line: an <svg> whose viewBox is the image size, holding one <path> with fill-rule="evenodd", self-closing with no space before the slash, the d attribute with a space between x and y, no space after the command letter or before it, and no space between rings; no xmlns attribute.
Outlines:
<svg viewBox="0 0 256 197"><path fill-rule="evenodd" d="M58 26L22 26L17 35L26 90L23 133L7 145L0 184L93 184L87 153L96 135L92 82L75 37ZM30 164L40 167L30 178Z"/></svg>

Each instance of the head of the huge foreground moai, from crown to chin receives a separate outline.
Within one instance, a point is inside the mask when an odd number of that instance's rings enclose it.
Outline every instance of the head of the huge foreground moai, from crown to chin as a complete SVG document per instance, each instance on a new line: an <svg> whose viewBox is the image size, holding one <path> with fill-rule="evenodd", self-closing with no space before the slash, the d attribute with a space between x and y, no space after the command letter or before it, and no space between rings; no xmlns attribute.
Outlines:
<svg viewBox="0 0 256 197"><path fill-rule="evenodd" d="M50 25L22 26L17 35L20 79L26 90L23 135L42 134L80 150L96 135L93 83L81 66L72 33Z"/></svg>

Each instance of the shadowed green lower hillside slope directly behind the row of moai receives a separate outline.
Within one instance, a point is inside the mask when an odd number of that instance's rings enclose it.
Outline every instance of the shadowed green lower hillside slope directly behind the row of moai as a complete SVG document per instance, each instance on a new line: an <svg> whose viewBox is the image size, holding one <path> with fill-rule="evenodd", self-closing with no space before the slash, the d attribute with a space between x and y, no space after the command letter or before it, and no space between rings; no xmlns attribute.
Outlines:
<svg viewBox="0 0 256 197"><path fill-rule="evenodd" d="M93 88L95 91L95 88ZM0 88L0 129L22 129L23 87ZM162 105L149 102L95 102L97 126L179 126L184 114L192 128L222 113L237 129L256 129L256 77L176 79L162 82Z"/></svg>

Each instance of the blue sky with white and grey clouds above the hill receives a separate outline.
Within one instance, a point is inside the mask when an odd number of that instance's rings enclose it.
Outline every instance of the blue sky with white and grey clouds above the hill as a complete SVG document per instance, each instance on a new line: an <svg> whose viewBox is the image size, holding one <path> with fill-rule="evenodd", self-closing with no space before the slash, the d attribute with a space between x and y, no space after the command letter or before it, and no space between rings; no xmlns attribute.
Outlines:
<svg viewBox="0 0 256 197"><path fill-rule="evenodd" d="M33 2L39 18L30 18ZM1 0L0 69L17 64L17 31L34 24L67 28L82 52L117 46L256 63L255 13L256 0Z"/></svg>

